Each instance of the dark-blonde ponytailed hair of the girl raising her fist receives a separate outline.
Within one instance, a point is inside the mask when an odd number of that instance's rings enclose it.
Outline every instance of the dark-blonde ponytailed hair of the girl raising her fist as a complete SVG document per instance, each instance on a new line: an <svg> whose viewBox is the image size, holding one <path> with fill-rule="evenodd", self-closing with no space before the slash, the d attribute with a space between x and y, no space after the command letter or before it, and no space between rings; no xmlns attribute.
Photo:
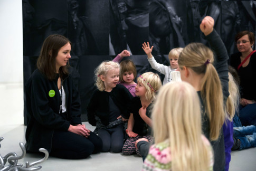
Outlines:
<svg viewBox="0 0 256 171"><path fill-rule="evenodd" d="M188 44L179 55L179 68L191 68L196 74L203 74L201 97L210 120L210 139L217 140L224 123L225 112L219 75L213 66L213 52L202 43Z"/></svg>

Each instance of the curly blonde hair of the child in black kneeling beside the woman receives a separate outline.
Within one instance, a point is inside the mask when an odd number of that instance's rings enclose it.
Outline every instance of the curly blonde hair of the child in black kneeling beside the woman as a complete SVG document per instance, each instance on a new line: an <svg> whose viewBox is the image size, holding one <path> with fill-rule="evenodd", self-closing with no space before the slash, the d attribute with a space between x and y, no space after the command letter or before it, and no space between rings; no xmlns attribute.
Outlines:
<svg viewBox="0 0 256 171"><path fill-rule="evenodd" d="M119 64L113 61L103 61L94 71L95 74L95 86L97 86L98 90L103 91L105 89L104 82L100 79L100 75L106 76L109 70L119 68Z"/></svg>

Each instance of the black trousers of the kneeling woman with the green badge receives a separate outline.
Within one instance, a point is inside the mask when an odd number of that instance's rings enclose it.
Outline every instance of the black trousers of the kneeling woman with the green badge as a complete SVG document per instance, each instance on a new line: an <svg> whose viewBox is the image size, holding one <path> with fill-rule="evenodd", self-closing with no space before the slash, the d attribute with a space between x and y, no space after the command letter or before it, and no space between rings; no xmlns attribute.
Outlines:
<svg viewBox="0 0 256 171"><path fill-rule="evenodd" d="M102 140L93 132L85 138L70 131L54 130L50 156L65 159L87 158L91 154L99 153L101 148Z"/></svg>

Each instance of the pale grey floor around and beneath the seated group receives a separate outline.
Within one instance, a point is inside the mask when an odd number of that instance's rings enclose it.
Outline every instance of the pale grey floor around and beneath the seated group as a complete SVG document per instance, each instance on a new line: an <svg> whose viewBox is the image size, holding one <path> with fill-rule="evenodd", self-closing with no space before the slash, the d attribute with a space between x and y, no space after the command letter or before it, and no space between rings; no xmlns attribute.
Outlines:
<svg viewBox="0 0 256 171"><path fill-rule="evenodd" d="M0 155L4 157L10 152L18 156L22 154L19 143L25 144L25 130L23 125L23 85L0 84L0 137L4 140L0 142ZM94 128L83 122L93 130ZM23 159L18 160L19 164L35 162L42 156L26 154ZM136 155L122 156L121 154L100 153L91 155L87 159L68 160L49 157L41 163L41 170L140 170L142 159ZM38 165L36 165L38 166ZM34 166L34 167L36 167ZM242 151L232 151L230 170L256 170L256 148Z"/></svg>

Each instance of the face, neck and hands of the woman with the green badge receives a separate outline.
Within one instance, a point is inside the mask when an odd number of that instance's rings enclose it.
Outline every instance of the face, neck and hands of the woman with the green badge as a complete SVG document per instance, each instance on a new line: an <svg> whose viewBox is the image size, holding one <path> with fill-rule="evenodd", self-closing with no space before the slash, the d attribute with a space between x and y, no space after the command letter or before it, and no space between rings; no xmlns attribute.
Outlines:
<svg viewBox="0 0 256 171"><path fill-rule="evenodd" d="M58 52L58 55L56 56L56 73L59 73L60 67L64 67L67 65L69 59L71 58L70 55L71 51L71 45L70 43L65 44L61 47L61 49ZM58 79L58 88L61 89L61 78ZM86 128L86 125L70 125L68 131L73 132L74 134L81 135L83 137L90 136L90 130Z"/></svg>

